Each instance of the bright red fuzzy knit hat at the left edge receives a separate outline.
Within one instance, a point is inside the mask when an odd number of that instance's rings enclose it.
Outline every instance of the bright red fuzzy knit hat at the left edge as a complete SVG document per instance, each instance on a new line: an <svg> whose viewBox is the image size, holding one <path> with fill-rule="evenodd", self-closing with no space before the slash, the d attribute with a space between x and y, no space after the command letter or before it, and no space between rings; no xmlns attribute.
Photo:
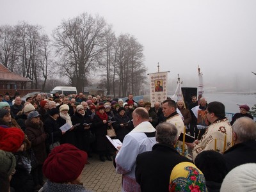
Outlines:
<svg viewBox="0 0 256 192"><path fill-rule="evenodd" d="M24 132L16 127L0 127L0 149L7 152L17 152L24 141Z"/></svg>

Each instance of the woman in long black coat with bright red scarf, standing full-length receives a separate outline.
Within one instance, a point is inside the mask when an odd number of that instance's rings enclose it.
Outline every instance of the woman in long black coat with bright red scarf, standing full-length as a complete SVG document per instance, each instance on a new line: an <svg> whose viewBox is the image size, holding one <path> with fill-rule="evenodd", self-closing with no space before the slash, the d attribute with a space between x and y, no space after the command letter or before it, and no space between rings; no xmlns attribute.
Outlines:
<svg viewBox="0 0 256 192"><path fill-rule="evenodd" d="M112 161L110 156L111 143L108 141L108 138L106 138L108 126L111 125L108 120L109 118L107 113L105 113L105 107L98 106L96 115L93 116L93 130L95 132L100 161L105 161L104 156L107 157L108 161Z"/></svg>

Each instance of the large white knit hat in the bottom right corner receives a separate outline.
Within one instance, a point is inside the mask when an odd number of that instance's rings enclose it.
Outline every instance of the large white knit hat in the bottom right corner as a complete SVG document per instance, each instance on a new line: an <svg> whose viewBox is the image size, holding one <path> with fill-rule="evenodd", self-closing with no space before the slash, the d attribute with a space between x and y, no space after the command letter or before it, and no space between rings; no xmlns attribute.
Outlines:
<svg viewBox="0 0 256 192"><path fill-rule="evenodd" d="M221 192L256 191L256 164L246 163L232 169L221 184Z"/></svg>

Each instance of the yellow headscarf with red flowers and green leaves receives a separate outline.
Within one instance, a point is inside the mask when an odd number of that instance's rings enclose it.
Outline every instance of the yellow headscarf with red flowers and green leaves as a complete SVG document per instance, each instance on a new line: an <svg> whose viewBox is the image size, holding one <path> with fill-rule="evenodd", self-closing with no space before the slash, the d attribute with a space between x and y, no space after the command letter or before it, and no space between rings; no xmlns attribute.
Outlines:
<svg viewBox="0 0 256 192"><path fill-rule="evenodd" d="M207 191L204 175L193 163L179 163L172 170L169 191Z"/></svg>

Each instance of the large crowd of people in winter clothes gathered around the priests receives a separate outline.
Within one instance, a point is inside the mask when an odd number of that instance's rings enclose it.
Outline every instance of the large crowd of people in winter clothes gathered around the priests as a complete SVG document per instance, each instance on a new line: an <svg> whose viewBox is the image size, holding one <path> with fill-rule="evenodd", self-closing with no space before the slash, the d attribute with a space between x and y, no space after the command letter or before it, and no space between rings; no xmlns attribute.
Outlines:
<svg viewBox="0 0 256 192"><path fill-rule="evenodd" d="M26 102L19 93L13 100L0 95L1 191L87 191L81 172L94 153L102 162L114 161L122 191L227 190L223 180L231 170L256 163L256 123L248 106L239 108L230 125L225 106L207 104L204 97L152 107L132 94L112 100L83 93L46 99L38 93ZM116 156L108 129L123 143ZM184 130L193 143L178 140Z"/></svg>

